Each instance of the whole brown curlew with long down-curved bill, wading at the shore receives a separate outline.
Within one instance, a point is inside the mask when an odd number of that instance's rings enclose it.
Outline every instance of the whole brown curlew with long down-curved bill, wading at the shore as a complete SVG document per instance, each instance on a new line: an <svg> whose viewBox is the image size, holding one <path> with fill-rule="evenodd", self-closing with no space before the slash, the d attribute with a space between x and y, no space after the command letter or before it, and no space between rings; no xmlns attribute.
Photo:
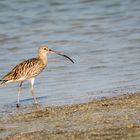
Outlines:
<svg viewBox="0 0 140 140"><path fill-rule="evenodd" d="M67 55L64 55L63 53L49 49L47 45L44 45L39 48L38 57L31 58L31 59L25 60L25 61L17 64L8 74L6 74L0 80L1 85L8 84L8 83L14 83L14 82L20 83L19 88L18 88L17 107L19 107L21 87L25 80L30 80L31 93L32 93L32 96L34 99L34 103L37 104L37 100L35 97L35 91L34 91L34 81L35 81L35 77L38 74L40 74L46 67L46 65L48 63L47 55L49 53L55 53L55 54L64 56L64 57L68 58L72 63L74 63L74 61Z"/></svg>

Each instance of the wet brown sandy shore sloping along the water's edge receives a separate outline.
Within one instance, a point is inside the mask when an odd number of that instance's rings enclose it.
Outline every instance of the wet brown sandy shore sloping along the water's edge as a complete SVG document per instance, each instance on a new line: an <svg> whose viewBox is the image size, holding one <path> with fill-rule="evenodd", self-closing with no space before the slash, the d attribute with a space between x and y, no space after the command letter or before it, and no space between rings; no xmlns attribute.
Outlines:
<svg viewBox="0 0 140 140"><path fill-rule="evenodd" d="M0 118L5 140L139 140L140 93Z"/></svg>

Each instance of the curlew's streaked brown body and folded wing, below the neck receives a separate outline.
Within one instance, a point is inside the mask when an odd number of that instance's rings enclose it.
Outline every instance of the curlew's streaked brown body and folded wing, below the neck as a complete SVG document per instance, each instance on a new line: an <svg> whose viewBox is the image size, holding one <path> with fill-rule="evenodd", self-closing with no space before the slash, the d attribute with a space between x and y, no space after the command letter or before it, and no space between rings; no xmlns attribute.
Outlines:
<svg viewBox="0 0 140 140"><path fill-rule="evenodd" d="M7 83L24 81L37 76L45 66L38 58L28 59L16 65L2 80L7 81Z"/></svg>

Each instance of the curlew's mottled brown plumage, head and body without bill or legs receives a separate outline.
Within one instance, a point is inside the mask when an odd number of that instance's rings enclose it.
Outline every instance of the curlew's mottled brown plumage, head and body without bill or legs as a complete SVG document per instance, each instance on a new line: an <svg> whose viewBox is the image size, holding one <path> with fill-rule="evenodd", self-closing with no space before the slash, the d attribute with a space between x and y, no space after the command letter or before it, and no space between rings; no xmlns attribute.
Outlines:
<svg viewBox="0 0 140 140"><path fill-rule="evenodd" d="M46 54L48 52L49 49L47 46L39 48L37 58L28 59L16 65L2 80L4 80L5 83L11 83L24 81L37 76L47 65Z"/></svg>

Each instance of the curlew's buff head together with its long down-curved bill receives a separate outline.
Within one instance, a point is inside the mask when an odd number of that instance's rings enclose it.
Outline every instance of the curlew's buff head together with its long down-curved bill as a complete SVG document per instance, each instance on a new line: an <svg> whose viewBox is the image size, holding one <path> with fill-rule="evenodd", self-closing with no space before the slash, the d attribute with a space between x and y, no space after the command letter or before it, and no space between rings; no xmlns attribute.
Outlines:
<svg viewBox="0 0 140 140"><path fill-rule="evenodd" d="M67 55L65 55L63 53L60 53L58 51L49 49L47 45L44 45L44 46L42 46L42 47L39 48L39 55L40 56L46 56L46 54L49 54L49 53L51 53L51 54L54 54L55 53L55 54L64 56L64 57L68 58L72 63L74 63L74 61L70 57L68 57Z"/></svg>

